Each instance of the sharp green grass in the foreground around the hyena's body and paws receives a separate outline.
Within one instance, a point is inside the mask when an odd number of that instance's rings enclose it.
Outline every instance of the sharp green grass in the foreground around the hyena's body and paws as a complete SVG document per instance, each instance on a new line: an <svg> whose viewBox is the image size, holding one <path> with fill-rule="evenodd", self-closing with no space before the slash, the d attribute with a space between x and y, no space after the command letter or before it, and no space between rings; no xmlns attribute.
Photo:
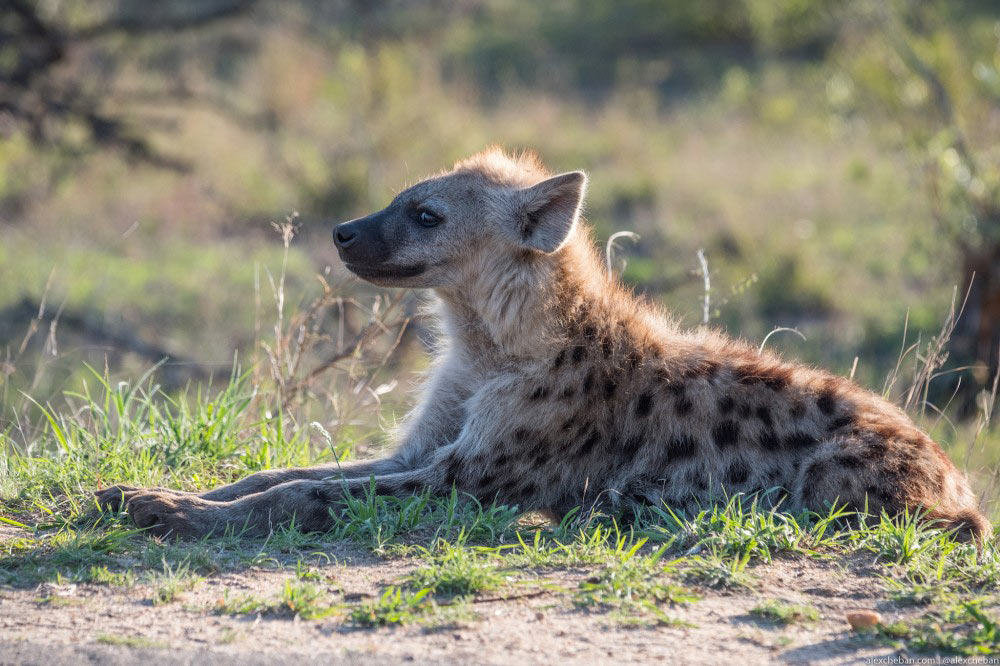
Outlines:
<svg viewBox="0 0 1000 666"><path fill-rule="evenodd" d="M736 495L691 514L649 507L623 523L572 511L554 524L457 492L369 491L349 499L327 533L289 525L261 539L229 533L191 543L150 539L127 515L93 506L98 479L207 488L330 455L330 443L310 439L308 428L262 417L266 408L254 407L247 391L247 378L234 375L215 394L168 401L148 387L102 379L76 395L76 411L46 408L37 448L6 442L4 524L20 536L0 543L0 585L139 588L151 603L169 604L202 580L266 569L287 574L273 593L227 590L202 610L433 629L474 623L481 601L527 595L652 627L683 624L684 607L699 597L759 588L761 567L776 559L810 558L848 568L860 562L880 577L886 603L905 619L880 627L877 640L955 654L995 649L1000 552L991 544L979 554L915 515L860 520L837 507L789 514L766 496ZM352 564L331 555L345 546L352 558L397 560L405 570L380 581L374 598L345 595L340 585ZM906 617L907 609L923 617ZM776 600L753 614L815 621L813 609Z"/></svg>

